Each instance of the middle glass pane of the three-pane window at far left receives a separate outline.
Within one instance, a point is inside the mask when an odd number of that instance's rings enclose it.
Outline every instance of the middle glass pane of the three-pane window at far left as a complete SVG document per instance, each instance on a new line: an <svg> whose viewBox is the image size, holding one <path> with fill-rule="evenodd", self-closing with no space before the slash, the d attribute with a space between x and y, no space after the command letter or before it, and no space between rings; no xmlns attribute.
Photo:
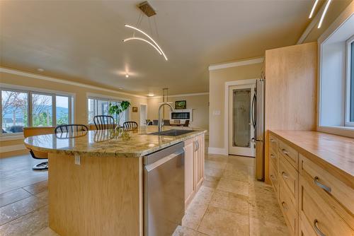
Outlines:
<svg viewBox="0 0 354 236"><path fill-rule="evenodd" d="M33 126L52 126L52 95L32 94Z"/></svg>

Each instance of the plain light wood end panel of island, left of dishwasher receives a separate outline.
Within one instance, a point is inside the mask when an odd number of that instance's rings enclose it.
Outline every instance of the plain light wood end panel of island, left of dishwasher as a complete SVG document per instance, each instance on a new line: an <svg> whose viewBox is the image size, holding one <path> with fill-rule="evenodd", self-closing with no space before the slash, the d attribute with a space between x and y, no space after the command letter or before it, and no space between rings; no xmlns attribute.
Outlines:
<svg viewBox="0 0 354 236"><path fill-rule="evenodd" d="M50 228L62 236L142 235L142 158L80 159L49 153Z"/></svg>

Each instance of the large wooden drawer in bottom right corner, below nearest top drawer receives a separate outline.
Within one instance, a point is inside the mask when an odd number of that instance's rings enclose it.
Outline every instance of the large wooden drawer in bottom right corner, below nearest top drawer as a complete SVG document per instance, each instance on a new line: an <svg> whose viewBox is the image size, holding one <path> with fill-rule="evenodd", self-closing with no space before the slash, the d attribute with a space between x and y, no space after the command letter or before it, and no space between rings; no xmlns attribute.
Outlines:
<svg viewBox="0 0 354 236"><path fill-rule="evenodd" d="M354 231L300 176L299 212L301 220L312 225L316 235L354 235ZM306 225L306 223L304 223Z"/></svg>

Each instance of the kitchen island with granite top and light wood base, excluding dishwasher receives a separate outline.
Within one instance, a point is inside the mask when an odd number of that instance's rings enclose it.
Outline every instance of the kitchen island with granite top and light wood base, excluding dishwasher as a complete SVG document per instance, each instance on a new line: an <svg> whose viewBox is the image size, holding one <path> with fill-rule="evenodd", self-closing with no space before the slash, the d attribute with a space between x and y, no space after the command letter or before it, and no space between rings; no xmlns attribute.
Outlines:
<svg viewBox="0 0 354 236"><path fill-rule="evenodd" d="M62 236L143 235L147 226L144 225L144 211L147 211L144 206L144 192L147 191L144 157L177 143L193 143L192 149L183 148L185 178L188 178L183 179L183 183L188 184L192 178L192 182L200 184L205 131L187 128L192 131L179 136L152 135L156 129L156 126L144 126L126 131L101 130L75 136L49 134L25 138L27 148L47 152L49 156L50 228ZM164 130L170 129L178 128L164 127ZM198 149L195 148L197 143ZM202 163L200 158L193 156L197 150L202 152ZM195 170L187 163L198 167ZM188 175L190 169L192 176ZM196 191L198 187L193 189Z"/></svg>

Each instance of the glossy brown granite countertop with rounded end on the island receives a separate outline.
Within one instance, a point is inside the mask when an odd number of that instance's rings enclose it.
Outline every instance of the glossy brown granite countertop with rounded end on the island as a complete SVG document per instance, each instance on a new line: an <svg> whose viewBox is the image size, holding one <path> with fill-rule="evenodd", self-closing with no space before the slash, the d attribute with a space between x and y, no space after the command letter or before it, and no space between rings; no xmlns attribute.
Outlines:
<svg viewBox="0 0 354 236"><path fill-rule="evenodd" d="M25 138L25 146L33 151L66 155L116 156L121 158L142 157L162 148L204 134L204 129L164 126L163 130L193 130L180 136L151 135L157 126L142 126L135 130L93 130L78 132L76 137L67 134L47 134Z"/></svg>

